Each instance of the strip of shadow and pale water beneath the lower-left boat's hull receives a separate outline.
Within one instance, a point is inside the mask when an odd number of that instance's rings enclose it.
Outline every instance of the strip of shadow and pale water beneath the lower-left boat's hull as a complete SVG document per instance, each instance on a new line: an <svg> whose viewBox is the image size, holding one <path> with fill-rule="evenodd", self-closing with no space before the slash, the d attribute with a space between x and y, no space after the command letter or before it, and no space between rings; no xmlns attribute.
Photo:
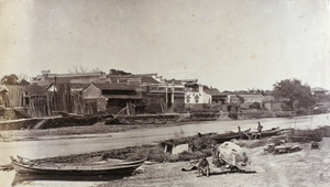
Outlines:
<svg viewBox="0 0 330 187"><path fill-rule="evenodd" d="M125 175L128 176L128 175ZM12 186L90 186L98 182L122 179L123 175L106 176L65 176L15 174Z"/></svg>

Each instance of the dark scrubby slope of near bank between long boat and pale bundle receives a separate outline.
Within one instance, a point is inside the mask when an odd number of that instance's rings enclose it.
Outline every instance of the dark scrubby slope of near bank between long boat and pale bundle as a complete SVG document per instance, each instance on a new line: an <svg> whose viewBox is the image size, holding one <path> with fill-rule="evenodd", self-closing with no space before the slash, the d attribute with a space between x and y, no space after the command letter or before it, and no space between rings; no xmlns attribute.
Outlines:
<svg viewBox="0 0 330 187"><path fill-rule="evenodd" d="M154 162L178 162L178 161L190 161L199 160L204 155L211 156L211 145L215 141L210 139L210 134L200 134L189 138L183 138L177 140L167 140L166 143L173 143L175 145L188 143L194 146L194 152L183 152L177 155L165 153L162 143L158 145L141 145L141 146L129 146L124 148L117 148L110 151L101 151L86 154L73 154L67 156L56 156L42 158L38 161L43 162L56 162L56 163L74 163L74 162L87 162L95 161L95 158L107 160L107 158L119 158L128 161L144 160Z"/></svg>

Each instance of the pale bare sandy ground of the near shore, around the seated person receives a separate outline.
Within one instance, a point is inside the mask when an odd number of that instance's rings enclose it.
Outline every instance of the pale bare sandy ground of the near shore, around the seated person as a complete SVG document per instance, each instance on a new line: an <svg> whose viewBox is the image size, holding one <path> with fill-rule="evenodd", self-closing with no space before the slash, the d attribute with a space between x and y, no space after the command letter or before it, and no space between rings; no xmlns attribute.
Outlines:
<svg viewBox="0 0 330 187"><path fill-rule="evenodd" d="M280 139L280 138L279 138ZM264 153L264 145L271 140L243 140L238 144L252 161L250 168L256 173L222 174L221 168L210 166L210 177L198 177L197 170L183 172L189 162L146 162L132 176L109 182L92 182L91 186L329 186L330 185L330 139L323 138L318 150L310 143L299 144L302 150L287 154ZM211 157L208 157L211 163ZM31 179L31 178L30 178ZM20 185L40 185L44 182L15 182ZM54 182L55 183L55 182ZM53 183L53 184L54 184ZM62 182L55 185L61 186ZM84 186L84 182L72 183ZM85 185L86 186L86 185Z"/></svg>

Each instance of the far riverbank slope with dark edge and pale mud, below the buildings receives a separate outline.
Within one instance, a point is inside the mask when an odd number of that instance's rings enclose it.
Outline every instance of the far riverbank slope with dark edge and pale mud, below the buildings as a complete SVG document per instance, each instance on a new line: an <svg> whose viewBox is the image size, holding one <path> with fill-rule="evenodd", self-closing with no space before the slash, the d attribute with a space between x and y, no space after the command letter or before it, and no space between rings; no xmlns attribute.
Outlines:
<svg viewBox="0 0 330 187"><path fill-rule="evenodd" d="M100 134L133 129L198 123L183 120L185 114L124 116L56 116L35 119L0 121L0 142L38 140L41 136Z"/></svg>

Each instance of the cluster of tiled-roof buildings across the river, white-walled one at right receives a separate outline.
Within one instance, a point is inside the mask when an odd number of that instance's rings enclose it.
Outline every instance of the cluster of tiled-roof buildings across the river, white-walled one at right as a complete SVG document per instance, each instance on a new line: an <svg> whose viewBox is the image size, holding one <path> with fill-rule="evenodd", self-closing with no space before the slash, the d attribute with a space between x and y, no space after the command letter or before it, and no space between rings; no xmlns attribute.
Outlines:
<svg viewBox="0 0 330 187"><path fill-rule="evenodd" d="M201 105L226 101L226 95L218 89L205 87L197 81L198 79L165 79L157 74L131 74L116 69L110 69L109 74L52 74L51 70L43 70L42 75L33 77L31 82L45 89L31 94L35 94L35 98L47 98L57 102L56 97L59 95L56 92L59 91L62 100L67 97L67 103L75 102L66 109L74 112L86 112L87 108L92 108L88 109L88 112L127 108L130 113L133 112L132 106L142 106L156 113L180 112L185 111L188 101ZM117 111L111 109L112 113Z"/></svg>

